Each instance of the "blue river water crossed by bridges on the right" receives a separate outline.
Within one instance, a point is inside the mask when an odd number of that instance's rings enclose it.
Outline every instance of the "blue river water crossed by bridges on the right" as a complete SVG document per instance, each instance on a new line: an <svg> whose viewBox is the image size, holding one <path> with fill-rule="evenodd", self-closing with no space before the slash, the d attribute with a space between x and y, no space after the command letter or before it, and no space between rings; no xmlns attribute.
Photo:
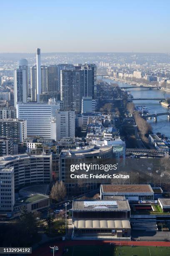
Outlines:
<svg viewBox="0 0 170 256"><path fill-rule="evenodd" d="M99 77L99 79L101 78ZM120 87L132 86L131 84L117 82L108 78L103 78L102 80L108 83L117 83ZM138 87L131 88L128 91L131 92L134 98L162 98L163 96L170 97L170 92L157 89L149 90L146 88L143 89ZM150 114L155 113L155 111L157 113L168 112L168 108L163 107L162 105L160 105L159 101L156 100L135 100L134 104L136 106L143 105L147 107ZM148 120L148 123L152 125L154 133L160 132L162 134L165 134L165 136L167 136L168 138L170 138L170 121L168 120L168 117L166 115L158 116L157 122L155 122L154 118L152 118L151 120Z"/></svg>

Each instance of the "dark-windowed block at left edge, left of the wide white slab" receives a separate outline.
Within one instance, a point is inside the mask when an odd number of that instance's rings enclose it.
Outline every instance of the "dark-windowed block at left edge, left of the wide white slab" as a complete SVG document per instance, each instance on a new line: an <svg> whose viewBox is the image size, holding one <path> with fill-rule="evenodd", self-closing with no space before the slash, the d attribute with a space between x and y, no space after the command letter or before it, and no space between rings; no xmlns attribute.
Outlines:
<svg viewBox="0 0 170 256"><path fill-rule="evenodd" d="M27 138L27 121L19 119L0 120L0 137L10 138L15 143L21 143Z"/></svg>

